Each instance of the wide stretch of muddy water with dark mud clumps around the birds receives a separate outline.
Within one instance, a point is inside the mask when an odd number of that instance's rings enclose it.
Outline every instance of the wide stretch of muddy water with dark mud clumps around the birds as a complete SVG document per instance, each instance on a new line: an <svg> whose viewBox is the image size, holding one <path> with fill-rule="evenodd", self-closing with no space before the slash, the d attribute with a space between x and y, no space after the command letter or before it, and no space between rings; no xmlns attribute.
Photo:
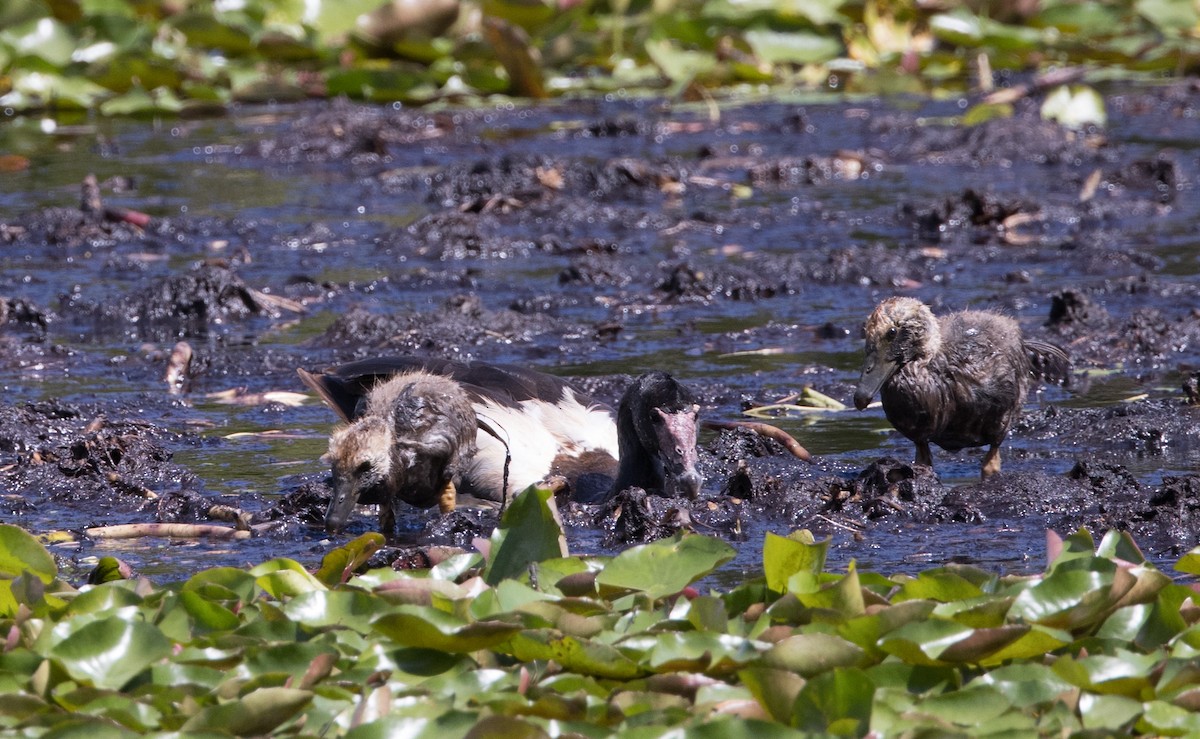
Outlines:
<svg viewBox="0 0 1200 739"><path fill-rule="evenodd" d="M793 528L832 536L835 566L1036 570L1048 525L1124 521L1070 487L1080 462L1126 470L1128 497L1147 500L1164 476L1200 464L1196 411L1181 391L1200 367L1200 94L1112 90L1108 101L1110 125L1085 132L1043 124L1031 101L974 130L952 125L960 101L742 104L719 118L660 101L334 103L64 121L50 134L8 120L0 152L29 167L0 178L4 402L61 402L78 417L46 421L42 438L26 429L37 441L12 432L0 521L47 533L163 517L40 488L44 477L26 469L35 446L101 415L151 427L170 452L170 474L140 477L152 492L271 510L323 485L332 415L312 399L226 404L216 393L300 392L295 367L376 353L527 364L610 402L626 375L662 368L696 387L713 419L805 385L848 402L863 319L881 298L911 294L937 312L1013 316L1068 348L1075 383L1031 397L1006 445L1007 486L976 485L979 450L935 449L936 495L968 491L983 506L968 516L958 503L883 518L814 504L823 481L852 481L883 456L911 459L911 444L877 407L776 419L818 463L750 459L755 485L793 503L784 515L746 507L730 577L754 569L766 531ZM151 223L79 222L88 174L106 206ZM151 320L139 300L200 263L302 311ZM1066 293L1087 310L1050 323ZM18 317L18 304L42 322ZM194 377L172 396L166 355L179 340L196 352ZM733 464L718 459L715 432L702 441L713 456L706 494L720 495ZM1058 495L1069 500L1038 503ZM430 517L402 522L408 540L427 540ZM80 569L114 553L168 577L272 555L316 563L370 525L362 515L334 540L295 523L248 542L56 552ZM571 540L605 547L586 527ZM1195 543L1186 533L1144 541L1164 563Z"/></svg>

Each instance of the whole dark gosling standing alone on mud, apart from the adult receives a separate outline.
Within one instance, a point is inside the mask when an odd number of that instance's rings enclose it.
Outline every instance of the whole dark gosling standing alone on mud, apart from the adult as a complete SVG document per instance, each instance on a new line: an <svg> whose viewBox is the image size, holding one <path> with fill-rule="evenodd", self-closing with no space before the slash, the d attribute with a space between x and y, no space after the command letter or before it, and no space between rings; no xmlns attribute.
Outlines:
<svg viewBox="0 0 1200 739"><path fill-rule="evenodd" d="M888 421L934 465L930 443L948 451L988 445L982 476L1000 471L1000 445L1020 415L1030 380L1066 381L1058 347L1025 340L1016 322L984 311L935 318L912 298L889 298L866 319L854 407L878 392Z"/></svg>

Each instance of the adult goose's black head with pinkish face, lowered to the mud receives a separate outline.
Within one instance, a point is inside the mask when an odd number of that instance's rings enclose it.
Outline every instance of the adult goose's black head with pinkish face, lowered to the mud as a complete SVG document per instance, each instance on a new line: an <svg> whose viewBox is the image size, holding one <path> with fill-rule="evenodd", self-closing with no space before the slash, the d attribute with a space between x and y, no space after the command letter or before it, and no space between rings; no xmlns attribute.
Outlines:
<svg viewBox="0 0 1200 739"><path fill-rule="evenodd" d="M694 498L703 477L696 470L700 405L665 372L641 375L617 408L620 467L614 492L628 487Z"/></svg>

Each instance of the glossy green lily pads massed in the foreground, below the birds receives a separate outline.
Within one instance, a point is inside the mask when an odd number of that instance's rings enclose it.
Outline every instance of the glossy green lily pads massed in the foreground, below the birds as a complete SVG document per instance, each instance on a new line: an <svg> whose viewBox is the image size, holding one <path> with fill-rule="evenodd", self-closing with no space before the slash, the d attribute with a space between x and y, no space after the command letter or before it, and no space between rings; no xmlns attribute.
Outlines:
<svg viewBox="0 0 1200 739"><path fill-rule="evenodd" d="M1054 540L1033 577L835 573L827 541L768 535L762 573L724 593L702 587L724 541L570 557L559 535L548 493L527 491L486 560L364 571L366 535L316 571L275 559L155 585L107 567L77 589L0 525L0 732L1200 732L1194 590L1120 534Z"/></svg>

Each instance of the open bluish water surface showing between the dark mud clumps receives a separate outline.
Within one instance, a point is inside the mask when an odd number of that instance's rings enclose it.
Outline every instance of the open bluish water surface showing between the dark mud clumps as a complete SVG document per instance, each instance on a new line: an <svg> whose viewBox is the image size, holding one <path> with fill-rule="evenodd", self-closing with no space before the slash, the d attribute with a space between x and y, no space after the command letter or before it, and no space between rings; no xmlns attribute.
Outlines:
<svg viewBox="0 0 1200 739"><path fill-rule="evenodd" d="M864 103L871 116L906 114L908 103ZM437 170L450 162L494 157L499 151L512 156L550 154L554 157L582 157L602 161L617 156L650 160L686 157L708 146L722 155L754 155L764 160L826 155L840 149L870 150L886 146L886 137L859 125L856 104L806 104L803 110L812 124L809 133L758 130L749 124L754 114L728 113L728 125L704 127L695 134L654 131L634 137L564 136L595 116L646 115L653 108L625 106L607 110L602 106L553 106L528 112L498 109L475 113L473 133L438 139L394 152L389 168ZM929 115L950 115L954 102L929 106ZM847 113L850 110L850 113ZM899 112L899 113L898 113ZM706 408L712 417L738 417L743 398L768 402L811 384L848 402L857 379L860 340L857 329L875 305L895 288L880 284L846 284L810 281L791 295L761 300L713 300L680 302L666 308L652 301L637 305L622 299L602 300L619 288L598 288L577 300L576 287L563 286L557 276L570 257L534 251L517 258L472 258L443 262L437 258L397 259L376 246L379 234L402 228L443 209L424 191L389 192L373 174L347 162L317 162L295 166L252 156L259 142L278 136L299 116L312 109L245 110L220 120L203 121L107 121L85 120L61 125L50 133L35 119L0 122L0 152L30 160L28 169L0 176L0 216L12 217L49 206L73 208L79 182L86 174L101 180L131 178L128 192L106 192L108 205L134 208L168 218L211 220L215 226L197 235L149 254L142 272L108 265L114 253L128 256L138 247L128 245L91 248L62 248L44 245L37 250L0 248L2 280L0 290L40 306L55 308L67 294L84 294L97 301L126 295L144 281L186 270L191 264L228 257L238 248L254 256L239 275L252 286L282 286L296 275L316 282L330 282L344 289L324 302L310 306L300 317L269 322L214 326L198 350L220 349L224 356L238 353L270 353L277 372L266 374L214 371L198 379L184 399L164 402L162 367L146 359L154 349L169 349L169 342L146 341L136 330L109 330L66 316L50 329L50 341L65 349L67 359L44 364L12 365L0 368L0 386L8 402L64 398L71 402L112 402L122 408L144 408L140 413L155 423L194 432L199 441L175 449L174 461L187 467L208 492L233 504L252 507L270 501L294 476L322 469L331 414L311 401L300 408L224 405L206 399L205 393L235 386L250 391L301 391L295 366L312 366L323 358L307 342L319 336L337 316L352 307L378 313L427 311L446 296L463 292L444 281L431 281L426 289L416 282L396 280L416 270L478 270L476 292L488 307L502 308L520 300L551 295L560 301L558 316L595 323L619 318L624 329L618 341L590 347L587 352L559 352L552 338L530 342L497 341L464 347L463 353L490 361L526 362L568 375L636 373L664 368L685 380L714 383L725 389L721 401ZM685 121L701 121L697 112L677 109ZM774 113L772 114L774 115ZM1153 156L1165 146L1183 150L1194 163L1200 137L1186 138L1168 126L1147 128L1141 119L1114 115L1108 136L1134 152ZM740 121L743 125L733 125ZM850 121L850 122L847 122ZM722 121L724 124L725 121ZM1081 167L1086 174L1086 167ZM718 169L714 176L720 176ZM976 164L929 167L914 162L887 162L871 176L851 182L830 181L799 188L754 188L749 197L736 198L727 188L690 188L677 200L636 204L646 211L661 210L691 228L682 235L647 234L644 229L623 228L620 223L571 222L574 234L595 235L622 242L636 239L634 250L654 265L679 260L689 254L766 253L797 254L811 251L823 259L827 250L851 245L881 245L889 250L912 250L913 230L896 217L898 204L937 203L978 187L1012 197L1040 198L1046 192L1078 190L1062 184L1063 169L1016 162L980 170ZM732 176L733 181L738 178ZM1194 200L1194 192L1187 196ZM1194 230L1195 206L1178 204L1156 214L1132 215L1103 232L1114 248L1136 250L1160 260L1158 278L1187 284L1200 271L1200 236ZM715 214L696 220L696 214ZM224 228L229 221L257 223L254 229ZM313 223L322 223L337 236L336 244L313 242L305 238ZM700 226L697 226L697 223ZM707 226L706 226L707 224ZM551 228L548 224L547 228ZM1063 226L1068 228L1069 226ZM653 230L653 229L652 229ZM661 230L661 229L660 229ZM236 234L236 235L235 235ZM251 239L247 234L257 234ZM535 236L536 234L527 234ZM514 234L517 238L518 234ZM934 281L910 292L950 307L997 307L1025 326L1037 329L1048 312L1048 296L1064 286L1098 284L1118 275L1063 272L1052 254L1020 247L980 246L994 256L970 263L950 262ZM1006 252L1012 250L1012 252ZM1028 282L1007 278L1014 269L1024 270ZM1115 266L1114 270L1130 268ZM636 289L637 286L630 288ZM1150 294L1114 296L1108 307L1121 313L1160 300ZM613 308L612 305L618 307ZM1174 305L1158 304L1164 310ZM844 329L834 338L822 338L817 329ZM208 342L208 346L205 346ZM1086 390L1072 393L1045 389L1031 398L1031 408L1056 403L1066 407L1103 407L1147 395L1164 397L1177 392L1182 373L1196 364L1195 347L1153 366L1102 368ZM326 353L325 359L336 359ZM238 364L232 362L234 367ZM317 364L319 366L319 362ZM148 398L152 398L149 401ZM890 433L876 408L866 413L800 413L780 419L779 425L796 435L820 463L812 475L853 475L881 455L908 458L911 445ZM277 432L276 435L264 435ZM1009 443L1006 470L1038 469L1066 473L1073 465L1070 439L1022 439ZM956 455L935 451L943 482L967 482L978 474L978 451ZM1151 458L1130 456L1123 461L1140 479L1153 483L1163 474L1195 470L1200 449L1172 445ZM35 533L72 529L96 523L88 511L53 510L40 506L34 512L0 517ZM116 523L106 519L103 523ZM368 517L358 522L366 530ZM746 531L730 577L752 571L760 558L762 536L768 530L786 533L786 525L754 521ZM1010 521L988 524L883 523L857 540L850 531L835 529L832 566L851 559L862 569L884 572L912 571L941 563L961 560L1000 571L1030 571L1044 559L1040 527ZM1099 534L1099 533L1097 533ZM572 546L587 551L595 540L586 531L572 535ZM146 551L144 541L100 543L82 551L62 547L60 553L80 559L116 554L134 561L149 575L167 577L216 564L250 564L268 557L292 557L312 564L334 542L318 530L286 540L238 543L172 543Z"/></svg>

